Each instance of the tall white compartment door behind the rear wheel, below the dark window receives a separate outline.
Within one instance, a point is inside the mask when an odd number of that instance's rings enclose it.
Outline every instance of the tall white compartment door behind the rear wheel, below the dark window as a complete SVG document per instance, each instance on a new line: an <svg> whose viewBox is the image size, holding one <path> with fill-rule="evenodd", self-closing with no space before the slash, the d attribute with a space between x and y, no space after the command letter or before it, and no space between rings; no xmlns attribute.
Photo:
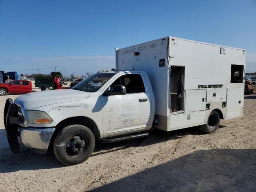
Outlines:
<svg viewBox="0 0 256 192"><path fill-rule="evenodd" d="M226 108L227 119L241 116L242 110L243 110L241 91L242 91L242 88L228 88L227 108Z"/></svg>

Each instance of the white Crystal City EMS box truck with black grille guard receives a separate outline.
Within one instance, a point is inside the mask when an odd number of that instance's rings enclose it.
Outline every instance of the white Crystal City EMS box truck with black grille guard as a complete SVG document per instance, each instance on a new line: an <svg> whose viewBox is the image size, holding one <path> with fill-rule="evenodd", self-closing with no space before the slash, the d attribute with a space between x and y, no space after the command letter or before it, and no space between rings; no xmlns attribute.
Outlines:
<svg viewBox="0 0 256 192"><path fill-rule="evenodd" d="M165 37L116 48L116 70L100 71L72 89L8 99L4 124L12 152L20 143L60 162L79 164L95 141L118 142L201 126L243 114L246 50Z"/></svg>

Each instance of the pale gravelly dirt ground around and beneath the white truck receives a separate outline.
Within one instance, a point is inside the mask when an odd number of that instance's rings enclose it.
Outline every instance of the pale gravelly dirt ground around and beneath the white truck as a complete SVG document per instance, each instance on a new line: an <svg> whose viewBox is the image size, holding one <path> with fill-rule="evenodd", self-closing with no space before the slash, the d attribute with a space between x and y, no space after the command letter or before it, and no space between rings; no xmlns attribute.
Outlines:
<svg viewBox="0 0 256 192"><path fill-rule="evenodd" d="M0 96L0 191L255 191L256 95L244 117L221 122L214 134L198 127L155 130L147 138L98 144L83 164L64 166L54 154L22 148L12 154Z"/></svg>

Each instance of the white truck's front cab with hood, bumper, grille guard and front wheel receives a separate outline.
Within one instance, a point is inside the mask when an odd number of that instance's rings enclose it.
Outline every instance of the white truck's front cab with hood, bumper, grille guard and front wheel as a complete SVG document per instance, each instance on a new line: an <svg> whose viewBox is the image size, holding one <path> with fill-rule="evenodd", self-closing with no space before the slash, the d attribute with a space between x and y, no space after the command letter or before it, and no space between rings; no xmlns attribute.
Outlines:
<svg viewBox="0 0 256 192"><path fill-rule="evenodd" d="M85 161L95 140L116 142L148 135L155 101L146 72L100 71L72 89L8 99L4 122L12 152L19 144L44 154L50 142L60 162Z"/></svg>

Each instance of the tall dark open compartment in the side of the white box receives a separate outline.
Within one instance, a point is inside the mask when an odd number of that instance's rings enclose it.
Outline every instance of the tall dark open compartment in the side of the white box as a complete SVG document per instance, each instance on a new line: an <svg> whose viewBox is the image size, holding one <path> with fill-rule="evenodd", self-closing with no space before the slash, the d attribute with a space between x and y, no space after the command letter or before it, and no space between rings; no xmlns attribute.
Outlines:
<svg viewBox="0 0 256 192"><path fill-rule="evenodd" d="M171 66L170 97L172 113L184 111L184 66Z"/></svg>

